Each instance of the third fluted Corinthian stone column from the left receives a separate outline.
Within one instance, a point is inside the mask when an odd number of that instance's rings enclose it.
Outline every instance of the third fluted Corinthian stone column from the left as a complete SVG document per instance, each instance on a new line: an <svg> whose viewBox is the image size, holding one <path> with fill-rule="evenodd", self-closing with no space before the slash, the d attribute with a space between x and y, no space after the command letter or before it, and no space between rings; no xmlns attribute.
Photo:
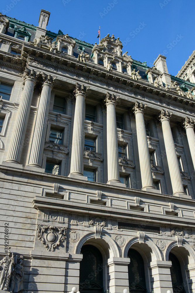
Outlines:
<svg viewBox="0 0 195 293"><path fill-rule="evenodd" d="M85 98L87 91L84 85L76 84L74 91L76 104L75 116L73 125L73 140L72 152L70 163L70 174L68 177L79 177L80 179L86 178L83 176L83 147L84 147L84 117L85 117Z"/></svg>

